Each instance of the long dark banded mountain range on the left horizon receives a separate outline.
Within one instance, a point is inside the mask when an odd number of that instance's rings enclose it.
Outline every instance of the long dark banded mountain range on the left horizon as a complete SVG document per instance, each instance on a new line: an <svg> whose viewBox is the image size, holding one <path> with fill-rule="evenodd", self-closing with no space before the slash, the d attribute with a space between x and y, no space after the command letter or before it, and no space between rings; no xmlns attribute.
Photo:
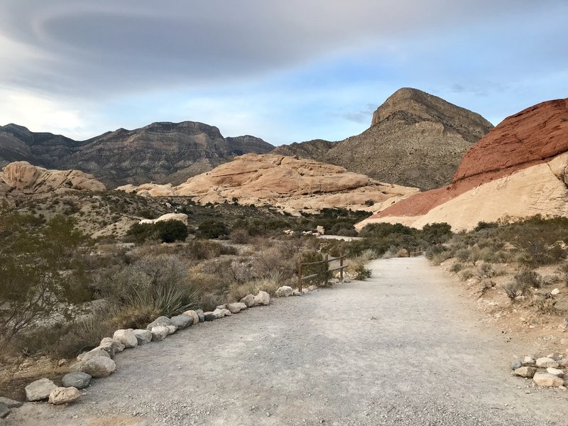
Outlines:
<svg viewBox="0 0 568 426"><path fill-rule="evenodd" d="M0 126L0 165L25 160L53 169L78 169L109 187L141 182L184 182L244 153L274 147L254 136L224 138L214 126L184 121L118 129L74 141L25 127Z"/></svg>

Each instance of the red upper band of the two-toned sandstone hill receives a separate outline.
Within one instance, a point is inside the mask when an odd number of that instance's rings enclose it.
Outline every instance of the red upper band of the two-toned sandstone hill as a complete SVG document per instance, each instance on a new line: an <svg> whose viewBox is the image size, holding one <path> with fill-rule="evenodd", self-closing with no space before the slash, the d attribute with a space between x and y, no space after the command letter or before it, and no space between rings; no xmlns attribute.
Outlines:
<svg viewBox="0 0 568 426"><path fill-rule="evenodd" d="M434 207L568 151L568 98L509 116L464 155L450 185L402 200L369 219L420 216Z"/></svg>

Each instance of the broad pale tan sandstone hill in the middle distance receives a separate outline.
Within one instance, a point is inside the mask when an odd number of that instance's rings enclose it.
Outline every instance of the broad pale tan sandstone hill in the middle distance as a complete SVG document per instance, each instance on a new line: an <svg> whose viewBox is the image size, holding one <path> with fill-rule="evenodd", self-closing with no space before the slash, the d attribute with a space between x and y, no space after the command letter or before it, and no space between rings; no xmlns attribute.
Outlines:
<svg viewBox="0 0 568 426"><path fill-rule="evenodd" d="M292 214L324 207L377 209L417 192L416 188L377 182L337 165L274 154L241 155L178 186L146 184L117 189L151 197L189 196L202 204L270 204Z"/></svg>

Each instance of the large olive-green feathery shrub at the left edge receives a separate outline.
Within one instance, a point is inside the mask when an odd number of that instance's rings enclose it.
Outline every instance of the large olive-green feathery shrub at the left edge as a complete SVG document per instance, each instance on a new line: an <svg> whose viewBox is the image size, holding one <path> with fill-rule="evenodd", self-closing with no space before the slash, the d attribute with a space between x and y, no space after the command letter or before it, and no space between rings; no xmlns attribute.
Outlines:
<svg viewBox="0 0 568 426"><path fill-rule="evenodd" d="M0 342L38 320L69 317L69 308L89 300L81 244L87 240L70 218L46 224L0 212Z"/></svg>

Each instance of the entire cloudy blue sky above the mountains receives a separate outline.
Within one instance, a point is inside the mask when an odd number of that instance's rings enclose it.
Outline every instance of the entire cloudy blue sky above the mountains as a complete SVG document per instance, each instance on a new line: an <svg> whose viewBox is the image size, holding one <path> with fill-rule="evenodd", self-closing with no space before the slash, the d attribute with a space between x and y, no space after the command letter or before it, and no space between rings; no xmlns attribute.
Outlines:
<svg viewBox="0 0 568 426"><path fill-rule="evenodd" d="M361 133L400 87L493 124L568 97L567 0L1 0L0 125Z"/></svg>

